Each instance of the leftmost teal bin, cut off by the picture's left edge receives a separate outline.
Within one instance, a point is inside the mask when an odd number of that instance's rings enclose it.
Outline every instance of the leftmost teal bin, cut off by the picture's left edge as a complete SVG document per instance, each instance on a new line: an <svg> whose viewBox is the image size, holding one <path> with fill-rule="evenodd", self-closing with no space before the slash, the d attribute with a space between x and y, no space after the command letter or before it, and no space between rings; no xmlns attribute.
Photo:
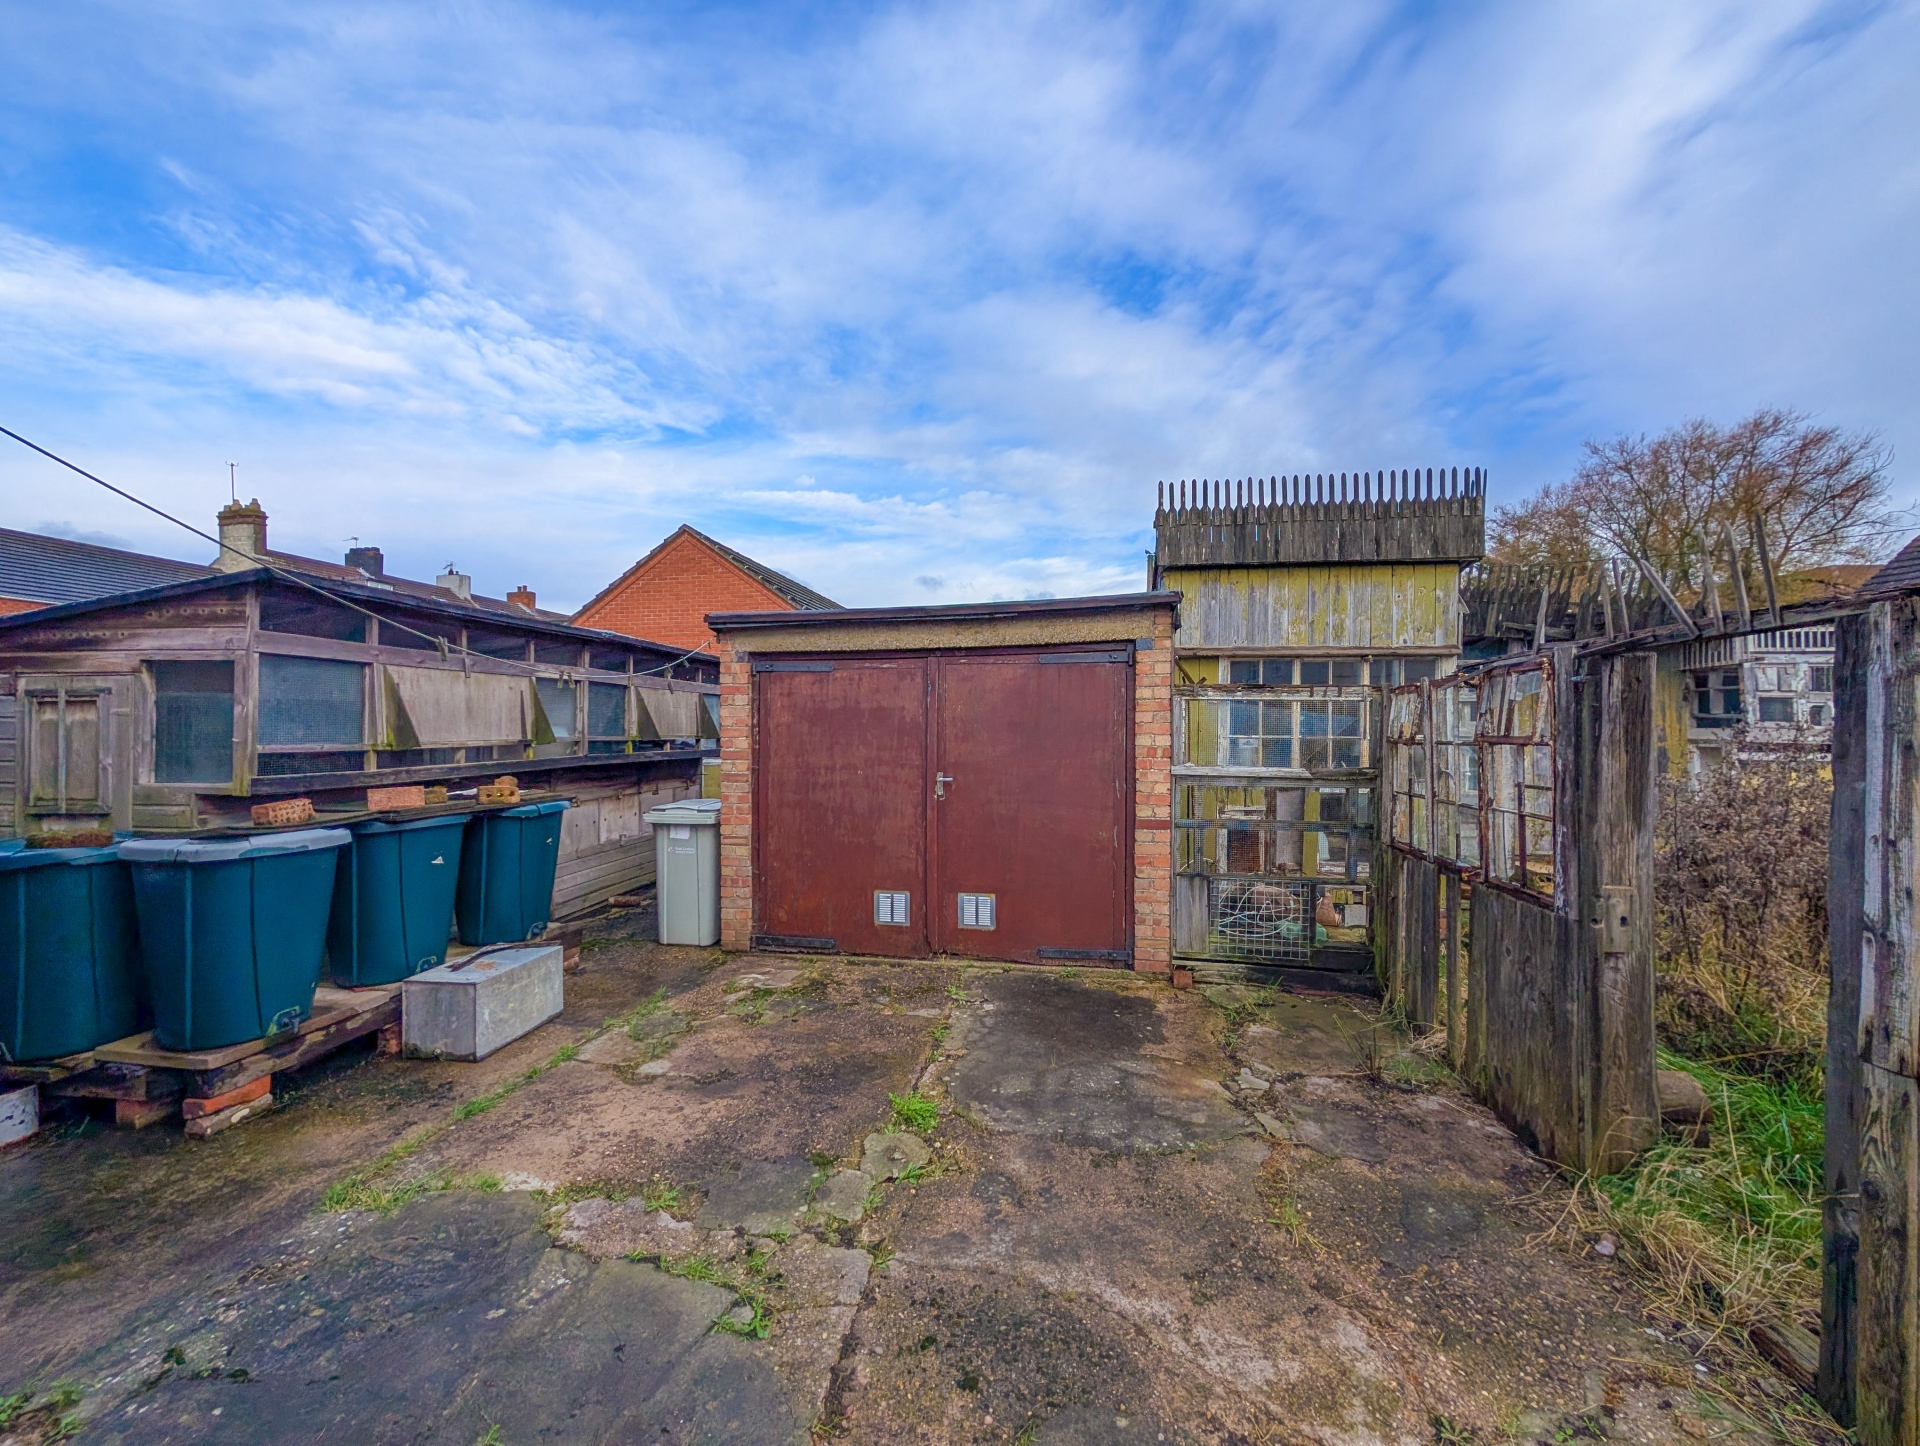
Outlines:
<svg viewBox="0 0 1920 1446"><path fill-rule="evenodd" d="M0 853L0 1058L54 1060L146 1027L119 847Z"/></svg>

